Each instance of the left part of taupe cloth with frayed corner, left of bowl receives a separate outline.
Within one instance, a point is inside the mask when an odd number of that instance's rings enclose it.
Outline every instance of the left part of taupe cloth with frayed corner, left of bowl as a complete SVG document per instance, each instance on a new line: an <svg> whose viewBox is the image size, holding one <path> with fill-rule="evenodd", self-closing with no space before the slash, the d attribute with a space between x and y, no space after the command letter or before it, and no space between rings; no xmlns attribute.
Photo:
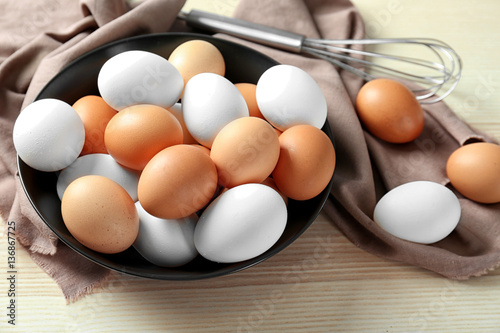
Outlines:
<svg viewBox="0 0 500 333"><path fill-rule="evenodd" d="M183 0L0 1L0 212L18 241L61 287L68 302L106 281L109 271L59 242L31 207L17 176L12 128L20 110L73 59L102 44L168 31ZM78 84L78 78L75 78Z"/></svg>

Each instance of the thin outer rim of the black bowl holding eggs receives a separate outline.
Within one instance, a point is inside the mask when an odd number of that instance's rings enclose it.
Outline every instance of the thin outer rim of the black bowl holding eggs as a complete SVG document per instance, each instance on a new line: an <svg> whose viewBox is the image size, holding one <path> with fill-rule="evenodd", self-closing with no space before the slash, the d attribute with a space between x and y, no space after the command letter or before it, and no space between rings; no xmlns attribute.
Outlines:
<svg viewBox="0 0 500 333"><path fill-rule="evenodd" d="M148 38L151 38L151 39L160 38L161 39L161 38L170 38L170 37L177 37L177 36L178 37L186 37L189 39L203 39L203 40L207 40L207 41L216 40L220 43L226 43L230 47L239 48L240 50L242 50L244 52L255 53L258 57L266 58L267 61L275 63L275 65L279 64L273 58L271 58L265 54L262 54L262 53L254 50L250 47L247 47L245 45L241 45L241 44L238 44L238 43L235 43L233 41L226 40L223 38L218 38L218 37L215 37L212 35L204 35L204 34L190 33L190 32L163 32L163 33L144 34L144 35L138 35L138 36L127 37L127 38L123 38L123 39L118 39L118 40L103 44L101 46L98 46L98 47L80 55L79 57L75 58L74 60L70 61L67 65L65 65L54 77L52 77L44 85L44 87L39 91L39 93L36 95L36 97L33 101L36 101L38 99L43 98L43 95L44 95L46 89L48 88L48 86L50 86L54 81L58 80L58 78L60 76L64 75L65 72L70 70L72 67L76 66L80 61L82 61L83 59L86 59L87 57L91 57L92 55L94 55L96 53L101 53L105 49L113 48L114 46L117 46L120 44L134 42L136 40L144 40L144 39L148 39ZM325 124L324 124L322 130L328 135L328 137L330 138L330 140L332 141L332 143L335 146L333 134L332 134L331 128L329 126L328 119L325 121ZM293 236L290 237L283 244L280 244L278 246L273 246L270 249L268 249L267 251L265 251L264 253L262 253L261 255L255 257L255 258L249 259L249 260L236 262L236 263L232 263L232 264L220 264L224 267L217 269L217 270L214 270L214 271L203 272L201 274L192 274L191 272L186 271L185 274L177 273L177 274L173 274L173 275L172 274L165 275L165 274L145 273L145 272L140 271L140 270L127 269L127 267L123 267L121 265L109 264L109 263L103 262L102 260L99 260L91 255L91 254L94 254L97 252L90 250L90 249L88 249L89 251L82 251L77 246L75 246L75 244L73 244L70 240L65 239L64 235L61 232L59 232L59 230L56 228L56 226L52 225L49 221L47 221L45 219L43 213L41 212L39 207L37 207L34 199L30 196L29 189L27 188L27 184L25 181L26 179L25 179L23 171L22 171L23 164L25 167L27 167L29 169L31 169L31 168L29 166L25 165L24 161L22 161L22 159L19 157L19 155L16 155L16 156L17 156L17 171L18 171L19 179L20 179L22 188L24 190L24 193L26 194L31 206L34 208L34 210L36 211L36 213L38 214L40 219L44 222L45 225L47 225L50 228L50 230L52 232L54 232L54 234L57 236L59 241L61 241L63 244L65 244L66 246L71 248L73 251L75 251L79 255L82 255L83 257L87 258L88 260L90 260L90 261L92 261L92 262L94 262L102 267L108 268L110 270L117 271L117 272L131 275L131 276L141 277L141 278L156 279L156 280L170 280L170 281L202 280L202 279L209 279L209 278L214 278L214 277L219 277L219 276L237 273L239 271L253 267L253 266L275 256L279 252L283 251L285 248L287 248L293 242L295 242L297 240L297 238L299 238L311 226L311 224L317 219L318 215L320 214L321 210L323 209L326 201L328 200L328 198L330 196L330 191L332 188L333 178L334 178L333 176L335 174L335 172L334 172L334 174L332 175L332 178L330 179L326 188L321 192L321 194L318 195L318 197L322 196L321 200L318 203L318 205L316 206L314 212L311 215L309 215L307 223L303 224L303 226L300 228L300 230L298 232L296 232L295 234L293 234ZM131 246L131 248L132 248L132 246ZM136 251L136 250L134 249L134 251ZM217 264L217 263L214 262L214 264ZM180 267L182 267L182 266L180 266Z"/></svg>

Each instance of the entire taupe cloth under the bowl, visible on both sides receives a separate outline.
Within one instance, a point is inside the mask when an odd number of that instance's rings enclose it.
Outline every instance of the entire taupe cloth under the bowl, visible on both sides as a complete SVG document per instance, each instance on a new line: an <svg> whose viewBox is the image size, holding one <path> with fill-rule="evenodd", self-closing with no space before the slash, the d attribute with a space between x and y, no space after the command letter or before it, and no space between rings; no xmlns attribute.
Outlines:
<svg viewBox="0 0 500 333"><path fill-rule="evenodd" d="M35 6L27 0L0 2L2 12L12 13L11 22L0 22L0 210L5 219L16 221L19 241L60 285L68 301L92 292L106 281L109 271L58 242L32 209L16 177L13 122L51 77L84 52L125 36L187 30L179 22L172 28L182 5L181 0L147 0L133 9L119 0L46 0ZM363 37L363 22L348 0L242 0L235 16L309 37ZM470 140L491 138L470 129L439 103L426 107L426 128L414 143L380 142L363 131L353 108L352 100L362 84L359 78L322 60L219 37L299 66L321 86L338 155L332 195L324 211L354 244L383 258L455 279L481 275L498 266L500 205L462 198L459 227L433 245L392 237L371 218L376 201L387 190L415 179L446 184L444 163L449 153ZM442 135L436 139L434 133Z"/></svg>

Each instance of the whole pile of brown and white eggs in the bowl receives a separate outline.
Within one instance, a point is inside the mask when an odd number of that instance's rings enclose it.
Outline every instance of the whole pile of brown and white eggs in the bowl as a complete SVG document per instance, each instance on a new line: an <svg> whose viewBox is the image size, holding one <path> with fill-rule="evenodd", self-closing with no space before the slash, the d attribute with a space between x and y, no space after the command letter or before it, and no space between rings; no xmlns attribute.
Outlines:
<svg viewBox="0 0 500 333"><path fill-rule="evenodd" d="M28 105L14 146L57 172L64 224L100 253L133 246L149 262L254 258L280 238L288 198L329 184L335 150L321 130L326 101L289 65L257 84L224 77L222 54L191 40L168 58L131 50L101 67L100 96Z"/></svg>

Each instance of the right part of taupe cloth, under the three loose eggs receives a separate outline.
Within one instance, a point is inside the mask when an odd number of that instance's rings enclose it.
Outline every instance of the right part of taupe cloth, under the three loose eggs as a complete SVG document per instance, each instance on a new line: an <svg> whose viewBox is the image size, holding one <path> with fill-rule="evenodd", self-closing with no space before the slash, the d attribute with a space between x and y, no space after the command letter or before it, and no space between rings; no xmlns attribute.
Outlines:
<svg viewBox="0 0 500 333"><path fill-rule="evenodd" d="M313 38L364 35L363 22L347 0L273 4L270 7L264 0L243 1L235 15ZM360 79L347 72L339 73L324 61L245 44L281 63L304 68L321 86L337 152L333 188L324 212L349 240L374 255L452 279L482 275L500 265L500 204L478 204L457 193L462 206L460 223L451 235L432 245L396 238L372 219L376 202L388 190L414 180L449 185L445 166L451 152L474 141L496 142L493 138L474 131L445 103L437 103L425 107L425 129L414 142L385 143L364 131L356 116L352 101L362 85Z"/></svg>

